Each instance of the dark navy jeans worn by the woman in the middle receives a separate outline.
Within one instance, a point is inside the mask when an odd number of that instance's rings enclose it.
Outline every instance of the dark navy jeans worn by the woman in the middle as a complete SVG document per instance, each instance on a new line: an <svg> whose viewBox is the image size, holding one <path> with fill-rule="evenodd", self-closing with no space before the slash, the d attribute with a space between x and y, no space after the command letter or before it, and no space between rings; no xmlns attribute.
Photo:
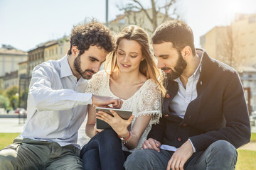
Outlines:
<svg viewBox="0 0 256 170"><path fill-rule="evenodd" d="M124 169L126 154L122 151L117 133L114 130L103 130L82 147L82 169Z"/></svg>

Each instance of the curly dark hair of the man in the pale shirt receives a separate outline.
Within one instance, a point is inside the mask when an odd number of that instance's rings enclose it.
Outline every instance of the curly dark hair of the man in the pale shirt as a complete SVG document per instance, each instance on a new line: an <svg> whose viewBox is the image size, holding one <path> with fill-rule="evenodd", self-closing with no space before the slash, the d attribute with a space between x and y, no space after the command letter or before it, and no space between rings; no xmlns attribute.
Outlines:
<svg viewBox="0 0 256 170"><path fill-rule="evenodd" d="M92 20L89 23L78 24L74 26L70 37L70 50L68 55L71 55L72 46L77 46L82 55L85 50L88 50L90 45L103 47L107 52L114 50L114 37L103 23Z"/></svg>

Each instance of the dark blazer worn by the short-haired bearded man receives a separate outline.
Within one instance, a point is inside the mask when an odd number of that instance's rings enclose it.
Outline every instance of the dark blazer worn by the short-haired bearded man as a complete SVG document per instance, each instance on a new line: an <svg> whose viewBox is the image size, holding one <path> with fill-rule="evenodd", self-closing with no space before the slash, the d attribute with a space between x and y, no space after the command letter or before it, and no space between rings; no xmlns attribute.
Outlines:
<svg viewBox="0 0 256 170"><path fill-rule="evenodd" d="M235 69L203 51L196 89L198 96L188 104L182 119L171 115L169 103L177 94L178 84L168 82L166 90L171 97L164 98L163 117L152 126L148 138L177 148L189 138L196 152L206 150L217 140L226 140L236 148L250 142L250 120Z"/></svg>

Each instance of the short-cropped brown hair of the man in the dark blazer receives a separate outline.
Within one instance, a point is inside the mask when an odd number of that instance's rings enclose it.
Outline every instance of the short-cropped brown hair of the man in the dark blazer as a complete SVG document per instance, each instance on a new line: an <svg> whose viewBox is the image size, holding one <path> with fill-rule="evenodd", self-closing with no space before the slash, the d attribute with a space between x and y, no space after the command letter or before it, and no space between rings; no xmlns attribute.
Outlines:
<svg viewBox="0 0 256 170"><path fill-rule="evenodd" d="M172 42L174 47L179 51L181 51L183 47L189 46L191 47L193 55L196 55L193 31L183 21L172 20L162 23L154 31L151 40L153 44Z"/></svg>

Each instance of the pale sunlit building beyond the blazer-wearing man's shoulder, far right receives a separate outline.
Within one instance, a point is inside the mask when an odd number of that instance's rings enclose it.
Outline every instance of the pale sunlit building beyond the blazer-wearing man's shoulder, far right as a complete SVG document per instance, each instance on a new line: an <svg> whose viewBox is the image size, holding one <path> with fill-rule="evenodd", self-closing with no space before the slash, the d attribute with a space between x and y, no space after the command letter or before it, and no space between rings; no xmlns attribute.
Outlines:
<svg viewBox="0 0 256 170"><path fill-rule="evenodd" d="M256 67L256 13L237 14L230 26L216 26L201 36L210 57L231 67Z"/></svg>

